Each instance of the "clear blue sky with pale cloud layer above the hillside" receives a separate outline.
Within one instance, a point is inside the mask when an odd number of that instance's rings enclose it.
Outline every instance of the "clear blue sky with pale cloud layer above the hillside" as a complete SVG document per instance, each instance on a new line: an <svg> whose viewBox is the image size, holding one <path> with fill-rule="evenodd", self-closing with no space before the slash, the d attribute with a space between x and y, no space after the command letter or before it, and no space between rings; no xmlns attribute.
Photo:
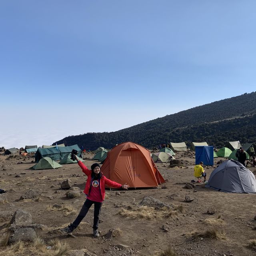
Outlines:
<svg viewBox="0 0 256 256"><path fill-rule="evenodd" d="M256 89L254 0L1 0L0 146L113 132Z"/></svg>

